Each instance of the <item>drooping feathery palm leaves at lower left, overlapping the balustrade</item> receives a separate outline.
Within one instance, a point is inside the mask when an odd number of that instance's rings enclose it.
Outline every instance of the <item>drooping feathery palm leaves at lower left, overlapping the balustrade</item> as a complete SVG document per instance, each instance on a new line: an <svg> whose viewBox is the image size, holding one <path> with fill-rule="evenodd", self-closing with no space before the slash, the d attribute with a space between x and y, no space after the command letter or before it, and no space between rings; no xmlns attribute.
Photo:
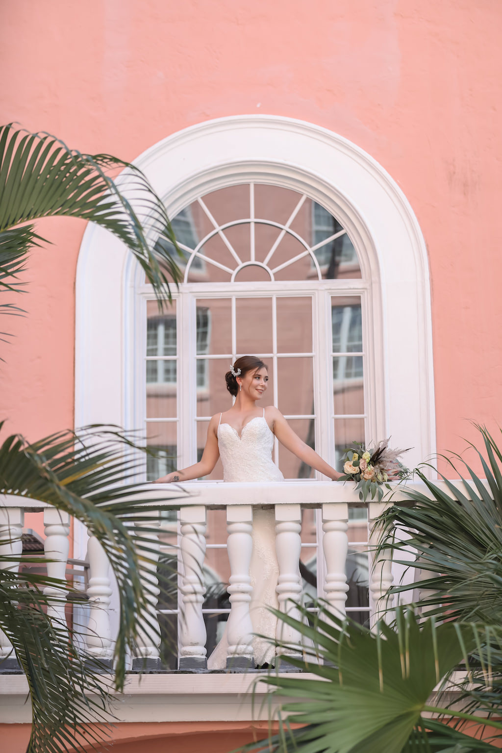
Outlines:
<svg viewBox="0 0 502 753"><path fill-rule="evenodd" d="M141 574L148 573L153 536L158 533L151 526L152 514L174 501L169 495L162 498L157 489L159 501L152 503L151 487L133 482L140 449L129 435L98 427L78 435L53 434L32 444L16 434L0 444L0 494L19 496L20 506L26 498L45 501L75 516L99 539L108 556L120 595L112 682L118 691L123 688L138 626L150 631L152 639L158 632L157 624L145 617L148 578L141 581ZM166 572L167 581L169 575ZM41 589L50 583L54 581L47 576L0 570L0 626L14 645L32 695L29 753L59 751L69 743L78 746L79 739L82 745L92 742L99 732L92 725L87 730L86 725L105 718L110 702L110 680L91 671L86 665L89 657L75 648L75 636L70 636L68 645L65 626L44 614L47 597ZM59 586L68 590L65 581ZM97 699L90 700L89 693Z"/></svg>

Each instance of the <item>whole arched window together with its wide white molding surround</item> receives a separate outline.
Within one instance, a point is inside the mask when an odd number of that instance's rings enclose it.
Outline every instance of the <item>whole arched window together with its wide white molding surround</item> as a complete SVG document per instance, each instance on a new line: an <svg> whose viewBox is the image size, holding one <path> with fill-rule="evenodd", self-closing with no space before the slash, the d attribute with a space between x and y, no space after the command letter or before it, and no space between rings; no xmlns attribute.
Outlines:
<svg viewBox="0 0 502 753"><path fill-rule="evenodd" d="M274 401L334 462L392 436L434 452L427 252L406 197L370 155L298 120L239 116L169 136L136 160L163 197L185 281L159 313L120 241L87 227L77 274L75 424L140 428L194 462L223 375L263 355ZM183 386L183 389L180 389ZM147 397L148 396L148 397ZM287 453L289 477L308 477Z"/></svg>

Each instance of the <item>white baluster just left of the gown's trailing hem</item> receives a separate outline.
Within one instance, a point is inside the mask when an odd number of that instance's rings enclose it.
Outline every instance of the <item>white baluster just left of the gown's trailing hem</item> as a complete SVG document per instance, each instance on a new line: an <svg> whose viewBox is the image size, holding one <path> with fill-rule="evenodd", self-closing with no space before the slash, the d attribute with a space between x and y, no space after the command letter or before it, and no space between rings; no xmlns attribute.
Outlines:
<svg viewBox="0 0 502 753"><path fill-rule="evenodd" d="M205 507L181 508L181 562L184 575L181 593L183 609L180 624L180 669L205 669L205 623L202 615L205 584L202 572L205 557Z"/></svg>

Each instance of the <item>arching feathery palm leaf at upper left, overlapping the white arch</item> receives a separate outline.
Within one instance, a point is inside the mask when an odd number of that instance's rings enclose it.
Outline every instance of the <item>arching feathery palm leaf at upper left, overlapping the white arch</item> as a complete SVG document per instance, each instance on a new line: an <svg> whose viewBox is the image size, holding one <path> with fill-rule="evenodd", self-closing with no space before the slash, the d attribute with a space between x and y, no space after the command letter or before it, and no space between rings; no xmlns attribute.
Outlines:
<svg viewBox="0 0 502 753"><path fill-rule="evenodd" d="M95 222L114 233L145 270L158 300L171 295L166 274L176 284L181 279L172 251L182 254L166 209L138 168L108 154L81 154L47 133L0 127L0 270L5 276L19 272L30 248L43 240L32 222L55 215Z"/></svg>

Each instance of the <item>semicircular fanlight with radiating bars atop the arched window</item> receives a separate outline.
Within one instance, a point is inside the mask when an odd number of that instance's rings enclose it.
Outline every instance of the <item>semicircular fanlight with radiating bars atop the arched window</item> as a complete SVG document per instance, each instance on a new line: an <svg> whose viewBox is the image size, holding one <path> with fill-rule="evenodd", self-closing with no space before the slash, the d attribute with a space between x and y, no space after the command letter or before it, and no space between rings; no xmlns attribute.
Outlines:
<svg viewBox="0 0 502 753"><path fill-rule="evenodd" d="M272 279L252 267L242 276L242 264L255 261L281 280L361 278L345 228L306 194L287 188L239 184L211 191L178 212L172 227L186 261L202 242L188 282L230 282L232 274L248 281L253 272L255 279ZM157 243L174 252L169 241Z"/></svg>

